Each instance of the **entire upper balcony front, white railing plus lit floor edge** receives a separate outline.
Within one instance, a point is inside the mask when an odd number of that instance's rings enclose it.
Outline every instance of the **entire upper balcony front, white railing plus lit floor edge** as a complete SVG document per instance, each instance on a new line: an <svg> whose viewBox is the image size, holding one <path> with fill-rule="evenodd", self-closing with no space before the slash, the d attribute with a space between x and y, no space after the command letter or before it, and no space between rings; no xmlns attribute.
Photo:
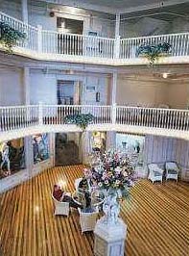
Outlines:
<svg viewBox="0 0 189 256"><path fill-rule="evenodd" d="M158 64L186 64L189 62L189 33L160 35L143 38L100 38L42 30L0 12L0 21L25 32L27 39L14 47L14 54L39 61L59 61L85 64L135 65L148 64L139 58L140 45L168 42L172 46L169 56L160 58ZM0 49L3 49L0 47Z"/></svg>

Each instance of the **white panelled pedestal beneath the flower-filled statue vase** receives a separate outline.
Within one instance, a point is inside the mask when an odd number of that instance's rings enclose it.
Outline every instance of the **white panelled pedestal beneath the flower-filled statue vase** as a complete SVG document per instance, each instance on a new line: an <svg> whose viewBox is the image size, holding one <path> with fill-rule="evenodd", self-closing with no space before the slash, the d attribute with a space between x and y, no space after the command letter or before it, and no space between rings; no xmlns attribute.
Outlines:
<svg viewBox="0 0 189 256"><path fill-rule="evenodd" d="M121 218L114 225L106 225L104 218L99 219L94 234L95 256L124 256L127 225Z"/></svg>

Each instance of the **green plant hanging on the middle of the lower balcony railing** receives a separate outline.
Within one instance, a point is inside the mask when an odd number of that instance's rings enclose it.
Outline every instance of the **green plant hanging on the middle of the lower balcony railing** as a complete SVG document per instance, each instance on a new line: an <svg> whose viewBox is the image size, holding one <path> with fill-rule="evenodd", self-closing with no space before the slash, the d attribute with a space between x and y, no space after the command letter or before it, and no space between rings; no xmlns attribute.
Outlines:
<svg viewBox="0 0 189 256"><path fill-rule="evenodd" d="M76 115L66 115L65 122L78 125L82 128L83 132L89 123L94 120L94 115L91 114L76 114Z"/></svg>

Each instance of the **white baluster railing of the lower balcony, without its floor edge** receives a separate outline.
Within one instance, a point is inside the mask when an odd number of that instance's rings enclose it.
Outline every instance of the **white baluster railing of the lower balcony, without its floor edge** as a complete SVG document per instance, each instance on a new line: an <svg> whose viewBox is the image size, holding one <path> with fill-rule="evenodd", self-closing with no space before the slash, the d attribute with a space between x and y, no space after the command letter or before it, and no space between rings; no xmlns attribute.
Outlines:
<svg viewBox="0 0 189 256"><path fill-rule="evenodd" d="M0 131L32 126L65 126L66 115L92 114L92 125L108 124L189 131L189 111L123 106L35 105L0 108ZM69 128L68 128L69 130Z"/></svg>

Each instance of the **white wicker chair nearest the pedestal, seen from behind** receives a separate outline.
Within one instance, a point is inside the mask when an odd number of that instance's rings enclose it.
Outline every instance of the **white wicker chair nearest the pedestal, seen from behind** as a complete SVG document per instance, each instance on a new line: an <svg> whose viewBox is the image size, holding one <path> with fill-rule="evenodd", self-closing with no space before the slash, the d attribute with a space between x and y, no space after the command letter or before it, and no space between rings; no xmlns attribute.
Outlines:
<svg viewBox="0 0 189 256"><path fill-rule="evenodd" d="M93 213L83 213L80 208L78 208L78 211L80 214L82 234L85 231L93 231L95 229L99 211L96 210Z"/></svg>

